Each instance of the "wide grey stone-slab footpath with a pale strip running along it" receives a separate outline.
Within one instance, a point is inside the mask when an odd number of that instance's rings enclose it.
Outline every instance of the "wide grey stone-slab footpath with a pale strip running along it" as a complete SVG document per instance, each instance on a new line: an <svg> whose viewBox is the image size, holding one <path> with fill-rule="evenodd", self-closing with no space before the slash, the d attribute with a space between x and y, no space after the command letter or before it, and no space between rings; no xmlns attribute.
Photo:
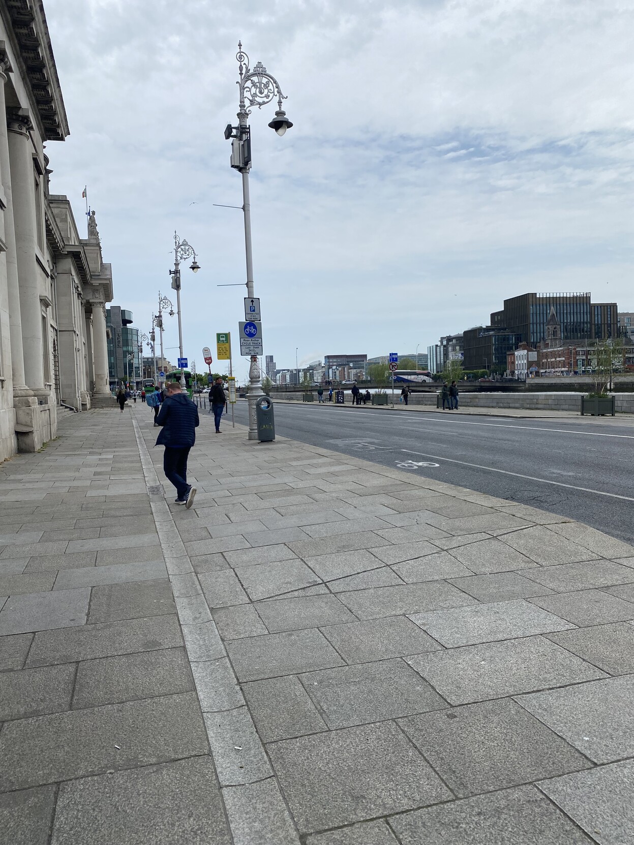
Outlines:
<svg viewBox="0 0 634 845"><path fill-rule="evenodd" d="M223 429L0 466L0 845L634 842L634 549Z"/></svg>

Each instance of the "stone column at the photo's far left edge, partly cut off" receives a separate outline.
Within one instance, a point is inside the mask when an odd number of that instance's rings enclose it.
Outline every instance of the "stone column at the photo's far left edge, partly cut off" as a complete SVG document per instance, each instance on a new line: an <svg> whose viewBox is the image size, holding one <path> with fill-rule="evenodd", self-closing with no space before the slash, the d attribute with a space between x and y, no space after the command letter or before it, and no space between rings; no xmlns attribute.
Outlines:
<svg viewBox="0 0 634 845"><path fill-rule="evenodd" d="M25 359L22 352L22 318L19 307L18 259L15 250L13 192L11 190L11 169L8 157L7 121L4 117L4 85L10 70L7 53L0 47L0 178L7 199L4 210L4 243L7 245L7 291L8 324L11 344L11 374L14 381L14 398L32 396L33 391L26 386Z"/></svg>

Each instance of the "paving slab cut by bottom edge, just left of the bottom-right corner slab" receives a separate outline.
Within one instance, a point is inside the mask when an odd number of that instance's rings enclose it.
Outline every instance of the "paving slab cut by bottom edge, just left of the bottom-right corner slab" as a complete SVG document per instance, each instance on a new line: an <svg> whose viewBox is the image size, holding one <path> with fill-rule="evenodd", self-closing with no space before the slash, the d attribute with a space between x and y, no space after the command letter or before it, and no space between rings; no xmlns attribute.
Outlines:
<svg viewBox="0 0 634 845"><path fill-rule="evenodd" d="M592 845L534 787L452 801L390 819L402 845ZM613 843L614 845L614 843Z"/></svg>

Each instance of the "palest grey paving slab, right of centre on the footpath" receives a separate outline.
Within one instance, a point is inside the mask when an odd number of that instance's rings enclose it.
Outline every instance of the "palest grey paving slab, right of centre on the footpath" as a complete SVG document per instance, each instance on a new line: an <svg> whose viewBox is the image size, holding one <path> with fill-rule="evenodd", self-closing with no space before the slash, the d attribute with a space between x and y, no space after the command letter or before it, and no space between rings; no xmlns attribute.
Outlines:
<svg viewBox="0 0 634 845"><path fill-rule="evenodd" d="M409 618L448 648L511 640L574 627L554 613L536 608L521 598L511 602L477 604L470 608L413 613Z"/></svg>

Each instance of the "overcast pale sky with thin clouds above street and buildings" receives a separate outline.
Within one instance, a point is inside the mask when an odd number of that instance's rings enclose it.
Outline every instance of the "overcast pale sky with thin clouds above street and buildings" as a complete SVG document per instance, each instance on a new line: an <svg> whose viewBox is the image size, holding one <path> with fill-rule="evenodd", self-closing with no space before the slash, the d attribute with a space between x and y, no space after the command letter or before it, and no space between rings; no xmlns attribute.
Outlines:
<svg viewBox="0 0 634 845"><path fill-rule="evenodd" d="M294 123L251 116L255 295L278 367L426 351L505 297L590 291L634 310L631 0L44 0L70 136L53 193L85 232L88 185L114 304L149 331L172 296L202 366L245 290L241 180L223 137L238 39ZM189 264L189 262L188 262ZM175 292L174 292L175 295ZM176 318L167 347L178 346ZM167 351L176 361L177 349Z"/></svg>

